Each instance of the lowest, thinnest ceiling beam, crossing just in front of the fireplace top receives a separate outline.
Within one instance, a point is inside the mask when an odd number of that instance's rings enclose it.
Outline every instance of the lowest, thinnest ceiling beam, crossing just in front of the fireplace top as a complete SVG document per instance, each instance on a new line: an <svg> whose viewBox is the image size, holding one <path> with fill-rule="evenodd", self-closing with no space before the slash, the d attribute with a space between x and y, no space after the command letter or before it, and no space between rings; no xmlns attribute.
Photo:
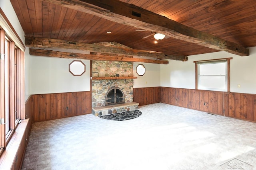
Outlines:
<svg viewBox="0 0 256 170"><path fill-rule="evenodd" d="M151 60L151 59L138 59L131 57L113 57L106 55L92 55L92 54L79 54L79 53L67 53L52 50L42 49L29 49L30 55L44 56L44 57L59 57L66 59L86 59L86 60L103 60L103 61L127 61L127 62L141 62L141 63L154 63L154 64L168 64L166 60Z"/></svg>

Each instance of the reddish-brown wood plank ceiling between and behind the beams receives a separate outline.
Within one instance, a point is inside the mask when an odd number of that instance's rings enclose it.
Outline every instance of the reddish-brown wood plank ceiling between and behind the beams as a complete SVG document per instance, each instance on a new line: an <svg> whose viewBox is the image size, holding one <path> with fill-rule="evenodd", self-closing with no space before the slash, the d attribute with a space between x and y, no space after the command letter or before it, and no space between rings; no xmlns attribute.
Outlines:
<svg viewBox="0 0 256 170"><path fill-rule="evenodd" d="M167 38L42 0L10 0L26 36L82 43L112 42L132 49L188 56L217 50ZM254 0L121 0L244 47L256 46ZM124 21L125 22L125 21ZM108 34L107 32L112 33Z"/></svg>

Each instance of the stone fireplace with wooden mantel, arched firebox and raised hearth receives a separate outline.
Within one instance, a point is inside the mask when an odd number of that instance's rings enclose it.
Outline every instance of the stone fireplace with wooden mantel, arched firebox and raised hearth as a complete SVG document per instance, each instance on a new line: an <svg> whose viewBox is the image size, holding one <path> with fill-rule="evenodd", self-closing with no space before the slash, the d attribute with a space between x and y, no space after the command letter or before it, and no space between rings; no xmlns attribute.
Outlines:
<svg viewBox="0 0 256 170"><path fill-rule="evenodd" d="M138 109L133 102L133 79L127 77L133 77L132 62L92 61L92 114Z"/></svg>

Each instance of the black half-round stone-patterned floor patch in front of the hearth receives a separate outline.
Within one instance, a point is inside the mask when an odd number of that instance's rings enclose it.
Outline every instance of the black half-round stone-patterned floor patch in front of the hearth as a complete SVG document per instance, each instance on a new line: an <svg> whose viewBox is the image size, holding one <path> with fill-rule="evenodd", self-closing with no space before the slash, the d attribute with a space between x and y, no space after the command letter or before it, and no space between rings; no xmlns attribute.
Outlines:
<svg viewBox="0 0 256 170"><path fill-rule="evenodd" d="M133 110L133 111L124 111L121 113L114 113L110 115L104 115L104 116L99 116L102 119L108 119L108 120L129 120L129 119L134 119L136 117L139 117L141 115L141 111L139 110Z"/></svg>

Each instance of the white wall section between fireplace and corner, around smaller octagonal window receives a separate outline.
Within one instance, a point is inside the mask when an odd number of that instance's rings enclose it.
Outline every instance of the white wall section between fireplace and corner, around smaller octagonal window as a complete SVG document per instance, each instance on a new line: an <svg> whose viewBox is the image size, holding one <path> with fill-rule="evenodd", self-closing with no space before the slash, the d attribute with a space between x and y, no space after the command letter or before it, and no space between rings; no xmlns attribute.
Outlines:
<svg viewBox="0 0 256 170"><path fill-rule="evenodd" d="M136 67L138 64L143 64L146 68L146 72L143 76L139 76L136 73ZM133 75L138 77L134 79L134 88L144 87L159 87L160 86L160 65L151 63L133 63Z"/></svg>

